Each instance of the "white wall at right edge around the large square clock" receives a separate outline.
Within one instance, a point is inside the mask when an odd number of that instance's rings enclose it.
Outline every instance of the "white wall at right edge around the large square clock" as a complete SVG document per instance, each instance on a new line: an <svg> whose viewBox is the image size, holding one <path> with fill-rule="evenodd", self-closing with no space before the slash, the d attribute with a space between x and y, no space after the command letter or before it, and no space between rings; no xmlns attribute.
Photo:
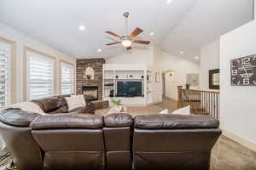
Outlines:
<svg viewBox="0 0 256 170"><path fill-rule="evenodd" d="M220 37L220 125L253 144L256 144L256 87L230 85L230 59L256 54L255 40L256 20Z"/></svg>

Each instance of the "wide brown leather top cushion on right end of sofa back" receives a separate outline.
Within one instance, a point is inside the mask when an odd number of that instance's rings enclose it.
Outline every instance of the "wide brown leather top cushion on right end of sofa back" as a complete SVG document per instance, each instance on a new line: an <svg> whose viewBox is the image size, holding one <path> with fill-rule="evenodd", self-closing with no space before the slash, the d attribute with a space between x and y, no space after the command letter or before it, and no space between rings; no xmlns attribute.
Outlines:
<svg viewBox="0 0 256 170"><path fill-rule="evenodd" d="M135 127L143 129L217 128L218 120L211 116L148 115L136 116Z"/></svg>

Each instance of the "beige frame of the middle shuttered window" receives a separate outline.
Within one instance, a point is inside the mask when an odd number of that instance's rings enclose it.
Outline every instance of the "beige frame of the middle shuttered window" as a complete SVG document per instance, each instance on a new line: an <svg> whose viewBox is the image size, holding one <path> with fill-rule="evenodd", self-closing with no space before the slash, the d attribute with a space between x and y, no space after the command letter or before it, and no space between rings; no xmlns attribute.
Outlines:
<svg viewBox="0 0 256 170"><path fill-rule="evenodd" d="M29 99L29 92L28 92L28 88L29 88L29 86L28 86L28 80L29 80L29 72L28 72L28 61L29 61L29 59L28 59L28 54L29 53L34 53L34 54L39 54L39 55L41 55L41 56L43 56L43 57L46 57L46 58L48 58L48 59L53 59L54 60L54 68L53 68L53 76L54 76L54 81L53 81L53 95L55 95L56 94L56 87L57 87L57 85L56 85L56 78L57 78L57 76L56 76L56 58L55 58L55 56L52 56L52 55L49 55L49 54L45 54L44 52L41 52L41 51L39 51L39 50L37 50L37 49L34 49L34 48L29 48L29 47L26 47L26 46L24 46L23 47L24 48L24 60L23 60L23 62L24 62L24 72L25 72L25 77L24 77L24 88L23 88L23 99L24 99L24 101L26 101L27 99Z"/></svg>

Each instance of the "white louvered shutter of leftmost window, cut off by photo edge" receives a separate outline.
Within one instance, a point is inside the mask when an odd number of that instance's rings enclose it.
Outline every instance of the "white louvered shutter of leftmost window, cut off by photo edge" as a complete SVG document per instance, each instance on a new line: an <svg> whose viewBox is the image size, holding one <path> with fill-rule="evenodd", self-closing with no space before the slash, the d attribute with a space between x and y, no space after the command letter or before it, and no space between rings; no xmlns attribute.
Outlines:
<svg viewBox="0 0 256 170"><path fill-rule="evenodd" d="M0 42L0 108L10 103L11 46Z"/></svg>

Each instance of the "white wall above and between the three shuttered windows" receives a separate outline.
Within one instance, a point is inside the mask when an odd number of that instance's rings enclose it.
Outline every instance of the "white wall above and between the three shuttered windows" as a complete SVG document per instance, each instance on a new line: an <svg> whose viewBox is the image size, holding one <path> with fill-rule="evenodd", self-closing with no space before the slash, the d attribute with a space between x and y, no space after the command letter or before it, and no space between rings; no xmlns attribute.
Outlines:
<svg viewBox="0 0 256 170"><path fill-rule="evenodd" d="M56 75L59 75L59 61L60 59L66 60L72 64L76 64L76 59L68 56L67 54L63 54L55 48L51 48L43 42L39 42L33 37L29 37L28 35L15 30L14 28L4 25L0 23L0 36L5 37L11 41L16 42L16 101L20 102L23 100L23 47L27 46L30 48L35 48L39 51L44 52L45 54L49 54L55 56L56 58ZM60 77L56 77L56 86L59 87ZM56 94L60 94L60 89L55 89Z"/></svg>

